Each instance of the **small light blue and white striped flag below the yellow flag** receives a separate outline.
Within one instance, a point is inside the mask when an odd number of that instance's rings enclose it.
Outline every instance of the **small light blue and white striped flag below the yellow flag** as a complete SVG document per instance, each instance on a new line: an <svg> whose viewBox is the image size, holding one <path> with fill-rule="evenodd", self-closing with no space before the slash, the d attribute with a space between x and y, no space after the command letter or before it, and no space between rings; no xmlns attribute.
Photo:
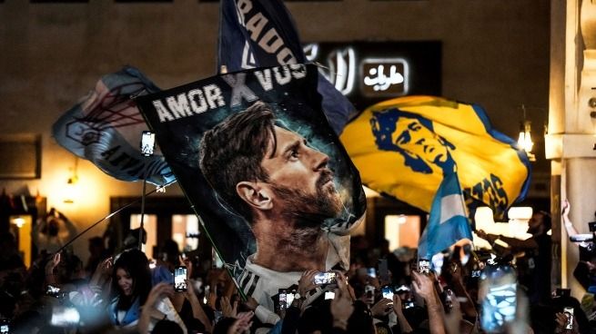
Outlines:
<svg viewBox="0 0 596 334"><path fill-rule="evenodd" d="M432 259L462 239L472 240L470 221L457 172L443 176L430 207L429 223L420 236L419 259Z"/></svg>

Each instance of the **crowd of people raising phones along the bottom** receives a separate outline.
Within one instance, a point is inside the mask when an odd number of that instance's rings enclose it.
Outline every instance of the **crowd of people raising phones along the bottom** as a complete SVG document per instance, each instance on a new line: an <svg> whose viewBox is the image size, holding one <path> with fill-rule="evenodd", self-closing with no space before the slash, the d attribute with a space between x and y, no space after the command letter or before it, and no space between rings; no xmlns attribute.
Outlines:
<svg viewBox="0 0 596 334"><path fill-rule="evenodd" d="M92 239L86 265L62 248L40 254L27 268L15 238L5 234L0 332L595 333L592 294L580 301L569 290L551 293L549 283L537 283L548 282L548 269L540 267L546 265L540 243L551 227L547 218L537 212L525 243L478 231L510 249L462 243L428 260L419 260L416 250L389 251L388 241L371 247L355 236L349 270L305 270L296 284L279 290L273 309L238 290L211 259L180 252L176 241L161 245L157 260L150 260L136 240L112 253L101 238ZM174 271L182 266L186 284L175 287Z"/></svg>

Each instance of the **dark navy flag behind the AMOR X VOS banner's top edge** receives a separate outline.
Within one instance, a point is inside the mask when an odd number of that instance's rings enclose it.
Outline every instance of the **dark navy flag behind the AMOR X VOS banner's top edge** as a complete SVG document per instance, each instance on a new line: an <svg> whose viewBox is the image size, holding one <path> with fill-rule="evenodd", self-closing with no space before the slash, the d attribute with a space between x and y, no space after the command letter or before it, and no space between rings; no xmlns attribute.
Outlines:
<svg viewBox="0 0 596 334"><path fill-rule="evenodd" d="M221 0L217 72L306 62L294 20L281 0ZM328 123L341 133L356 109L320 73L318 93Z"/></svg>

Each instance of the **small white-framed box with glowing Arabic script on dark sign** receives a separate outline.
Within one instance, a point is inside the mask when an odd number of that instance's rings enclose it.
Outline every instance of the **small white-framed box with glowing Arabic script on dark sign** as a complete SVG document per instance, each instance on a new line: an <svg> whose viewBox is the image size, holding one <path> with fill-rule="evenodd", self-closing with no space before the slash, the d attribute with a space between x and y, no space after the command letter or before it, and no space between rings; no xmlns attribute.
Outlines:
<svg viewBox="0 0 596 334"><path fill-rule="evenodd" d="M403 58L369 58L361 63L365 96L400 96L408 93L409 66Z"/></svg>

